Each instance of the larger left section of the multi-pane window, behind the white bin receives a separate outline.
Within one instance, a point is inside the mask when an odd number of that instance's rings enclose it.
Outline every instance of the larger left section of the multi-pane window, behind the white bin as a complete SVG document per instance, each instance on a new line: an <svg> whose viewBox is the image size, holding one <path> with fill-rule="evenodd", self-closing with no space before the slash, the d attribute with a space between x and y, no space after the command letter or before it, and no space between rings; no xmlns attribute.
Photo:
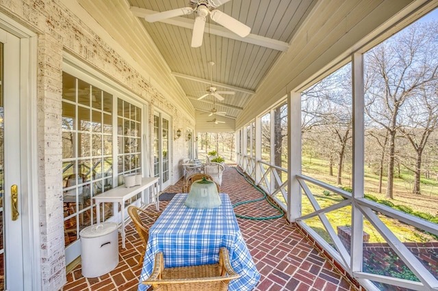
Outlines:
<svg viewBox="0 0 438 291"><path fill-rule="evenodd" d="M80 230L96 222L92 197L112 188L112 95L64 72L62 97L67 246L79 238Z"/></svg>

